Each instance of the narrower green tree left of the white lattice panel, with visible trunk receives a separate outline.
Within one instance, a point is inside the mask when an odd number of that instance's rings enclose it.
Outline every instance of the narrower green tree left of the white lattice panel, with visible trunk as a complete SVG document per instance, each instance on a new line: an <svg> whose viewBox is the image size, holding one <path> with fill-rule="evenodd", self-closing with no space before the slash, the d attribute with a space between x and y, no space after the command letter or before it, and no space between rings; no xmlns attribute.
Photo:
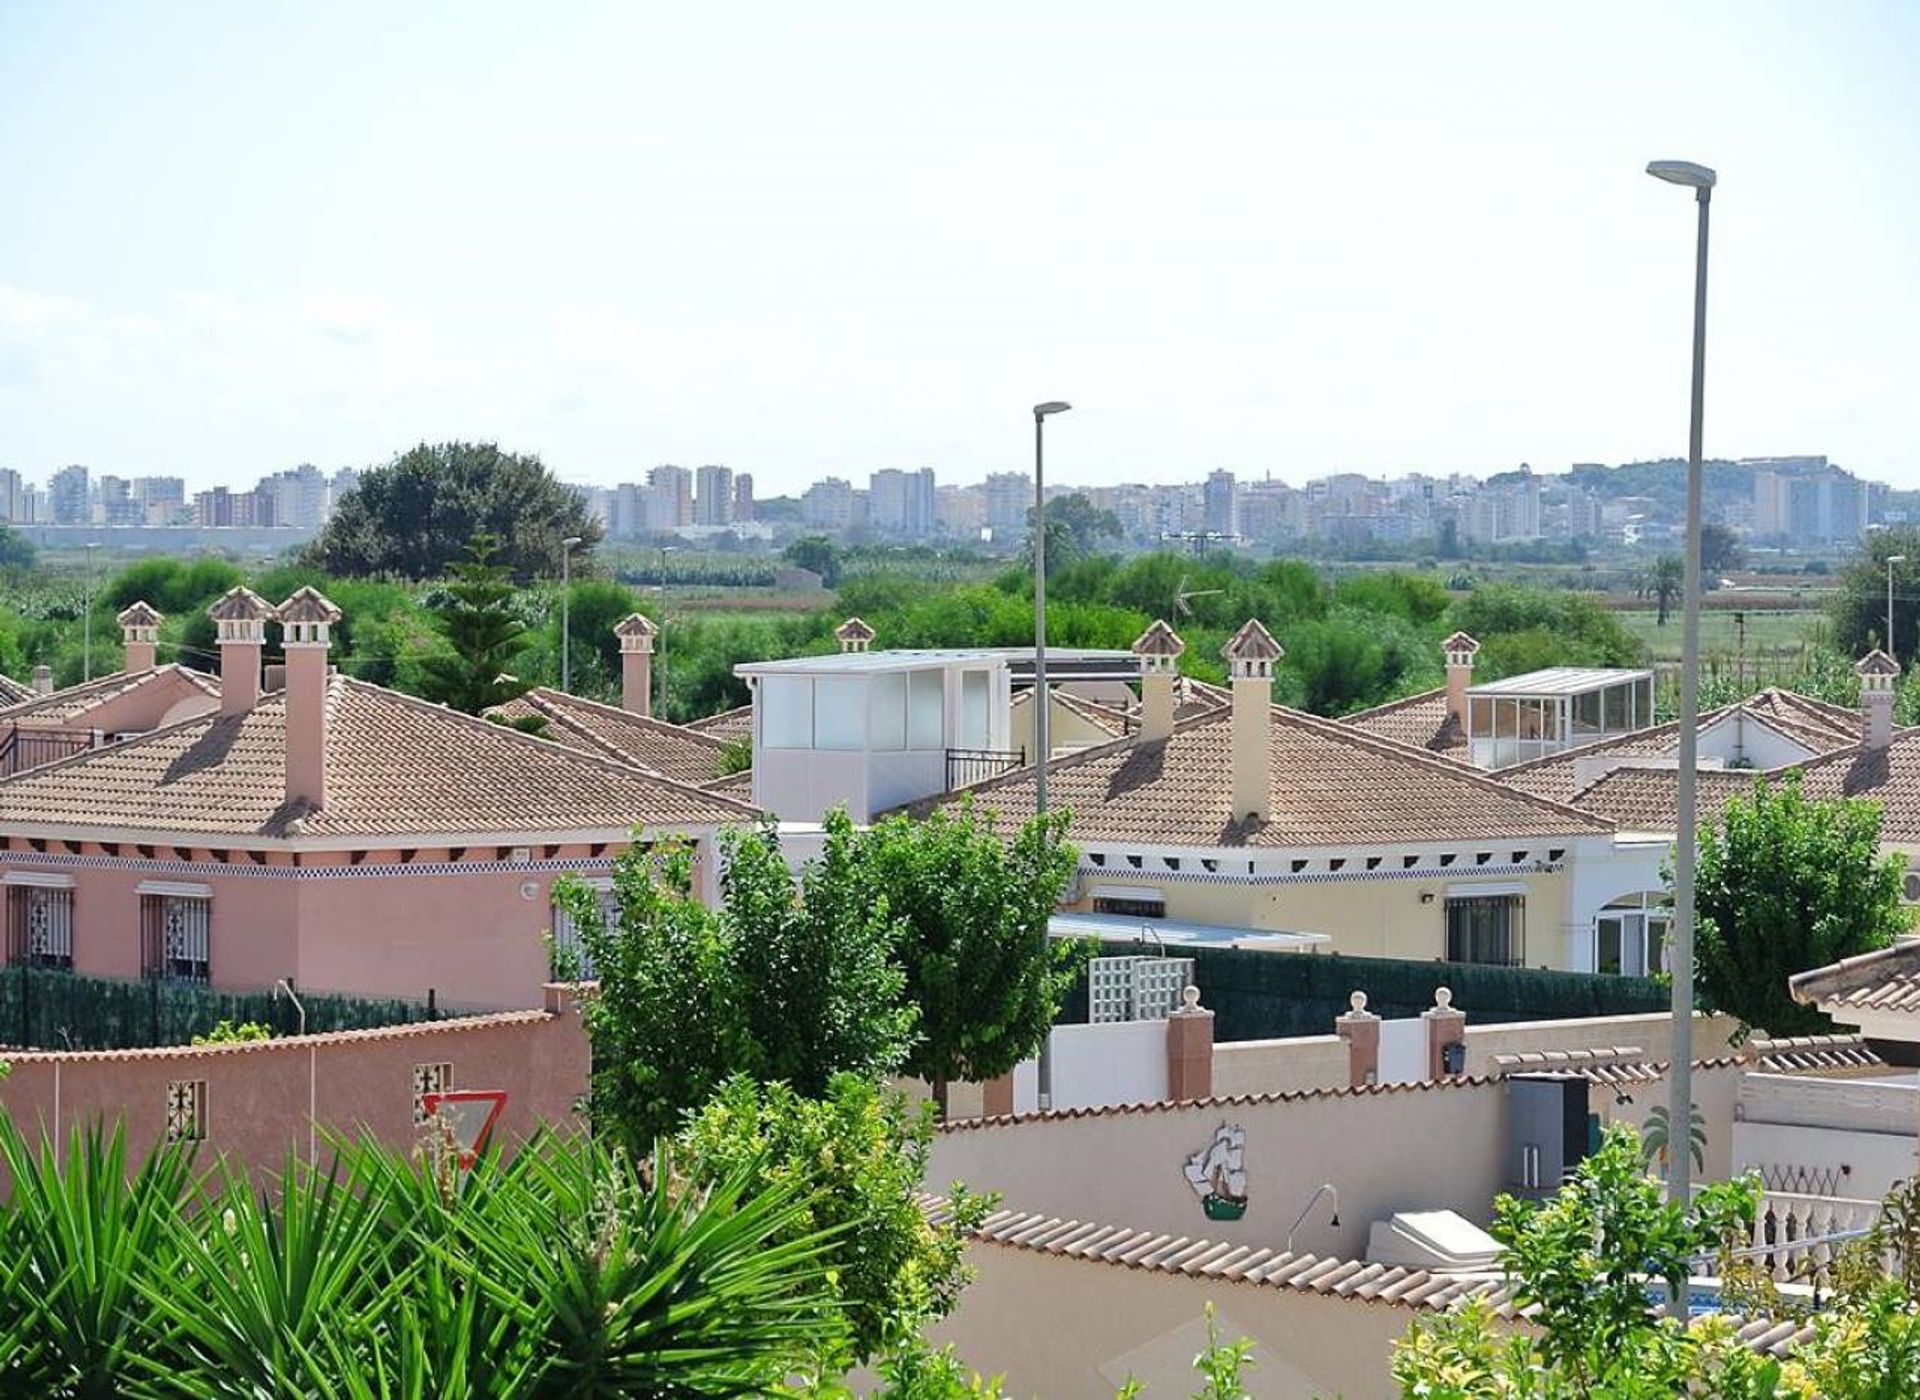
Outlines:
<svg viewBox="0 0 1920 1400"><path fill-rule="evenodd" d="M874 826L860 851L876 899L904 920L895 958L920 1039L906 1072L947 1110L952 1079L985 1081L1041 1049L1085 949L1046 933L1073 878L1066 812L1000 839L972 805Z"/></svg>

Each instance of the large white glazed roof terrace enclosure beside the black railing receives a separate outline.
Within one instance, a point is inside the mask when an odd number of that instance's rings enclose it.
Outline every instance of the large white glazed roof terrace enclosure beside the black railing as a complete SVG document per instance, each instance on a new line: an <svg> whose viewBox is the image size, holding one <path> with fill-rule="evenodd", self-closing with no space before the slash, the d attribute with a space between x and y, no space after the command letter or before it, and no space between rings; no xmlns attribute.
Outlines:
<svg viewBox="0 0 1920 1400"><path fill-rule="evenodd" d="M845 645L843 638L843 645ZM755 661L753 801L787 822L845 803L856 822L1025 762L1012 688L1031 647L864 651ZM1046 649L1048 682L1139 680L1131 651Z"/></svg>

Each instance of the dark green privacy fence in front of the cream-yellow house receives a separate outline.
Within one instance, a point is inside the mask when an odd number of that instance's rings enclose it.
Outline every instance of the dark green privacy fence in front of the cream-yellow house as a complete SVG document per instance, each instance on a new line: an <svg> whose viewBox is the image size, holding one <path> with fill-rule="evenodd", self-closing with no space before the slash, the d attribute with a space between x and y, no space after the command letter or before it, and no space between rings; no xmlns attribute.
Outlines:
<svg viewBox="0 0 1920 1400"><path fill-rule="evenodd" d="M1146 943L1114 941L1104 956L1146 954ZM1540 1022L1567 1016L1628 1016L1667 1010L1668 993L1645 978L1594 972L1498 968L1475 962L1409 962L1350 958L1338 953L1246 953L1242 949L1181 949L1169 956L1194 960L1200 1004L1213 1012L1215 1041L1263 1041L1281 1035L1331 1035L1348 997L1367 993L1377 1016L1419 1016L1434 1004L1434 987L1450 987L1467 1024ZM1083 976L1062 1020L1087 1020Z"/></svg>

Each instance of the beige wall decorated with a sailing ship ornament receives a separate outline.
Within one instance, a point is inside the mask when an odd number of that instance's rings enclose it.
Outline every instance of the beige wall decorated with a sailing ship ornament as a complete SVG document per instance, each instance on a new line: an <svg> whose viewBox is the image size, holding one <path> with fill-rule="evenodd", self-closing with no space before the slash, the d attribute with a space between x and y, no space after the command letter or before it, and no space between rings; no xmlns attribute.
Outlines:
<svg viewBox="0 0 1920 1400"><path fill-rule="evenodd" d="M1250 1204L1238 1221L1208 1219L1181 1171L1221 1123L1246 1129ZM1457 1210L1486 1223L1505 1185L1505 1131L1500 1083L1175 1104L947 1129L927 1181L998 1191L1008 1210L1271 1248L1286 1246L1294 1216L1331 1181L1340 1227L1323 1202L1298 1248L1361 1258L1367 1225L1396 1210Z"/></svg>

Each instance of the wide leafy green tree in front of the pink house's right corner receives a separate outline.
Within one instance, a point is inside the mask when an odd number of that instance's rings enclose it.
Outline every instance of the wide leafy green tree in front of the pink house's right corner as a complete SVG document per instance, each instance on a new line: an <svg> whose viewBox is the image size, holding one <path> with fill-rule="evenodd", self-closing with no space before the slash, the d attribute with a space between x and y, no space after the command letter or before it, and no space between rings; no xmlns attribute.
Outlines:
<svg viewBox="0 0 1920 1400"><path fill-rule="evenodd" d="M735 1074L818 1098L835 1074L893 1074L914 1037L893 962L900 928L847 814L828 814L799 881L770 828L722 841L718 910L695 899L680 845L622 855L607 916L580 881L555 891L599 979L584 1006L589 1112L632 1150L674 1133Z"/></svg>

